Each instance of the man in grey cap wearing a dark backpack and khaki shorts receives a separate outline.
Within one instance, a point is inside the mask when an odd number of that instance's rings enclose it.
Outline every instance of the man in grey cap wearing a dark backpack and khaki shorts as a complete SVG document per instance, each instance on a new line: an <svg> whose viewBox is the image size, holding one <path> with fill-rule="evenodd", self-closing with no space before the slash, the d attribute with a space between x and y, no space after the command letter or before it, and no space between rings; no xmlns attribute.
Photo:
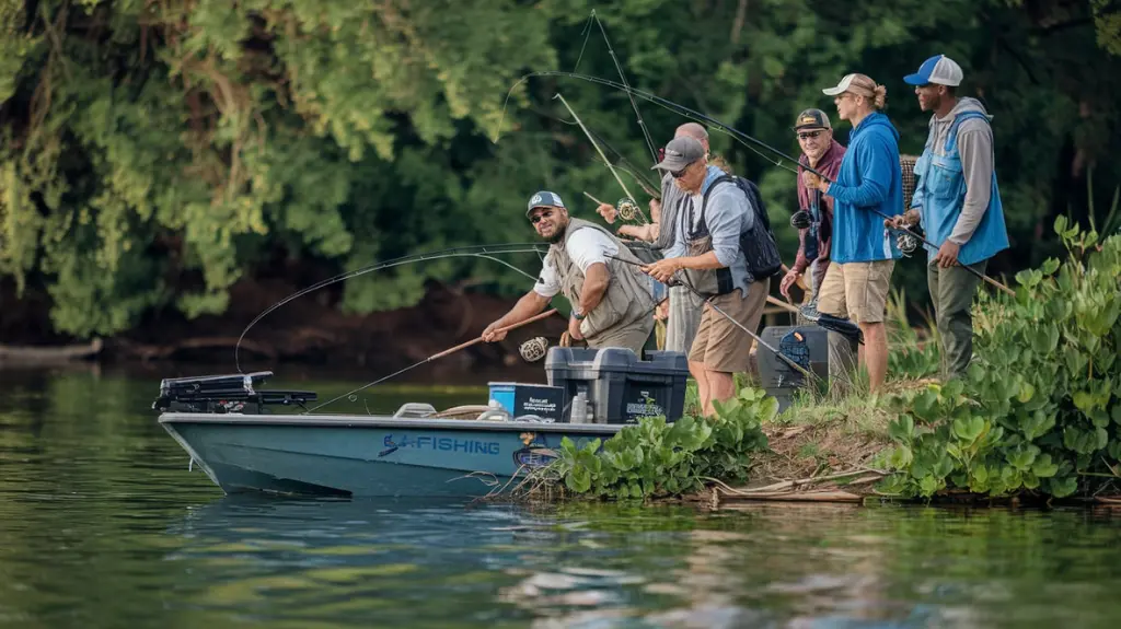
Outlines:
<svg viewBox="0 0 1121 629"><path fill-rule="evenodd" d="M754 225L751 200L706 156L694 138L675 138L654 167L674 178L688 205L678 213L671 253L645 269L659 282L673 278L707 298L689 350L689 373L703 413L712 415L713 401L735 395L734 374L749 368L753 339L740 326L758 329L770 279L751 276L740 246L741 235Z"/></svg>

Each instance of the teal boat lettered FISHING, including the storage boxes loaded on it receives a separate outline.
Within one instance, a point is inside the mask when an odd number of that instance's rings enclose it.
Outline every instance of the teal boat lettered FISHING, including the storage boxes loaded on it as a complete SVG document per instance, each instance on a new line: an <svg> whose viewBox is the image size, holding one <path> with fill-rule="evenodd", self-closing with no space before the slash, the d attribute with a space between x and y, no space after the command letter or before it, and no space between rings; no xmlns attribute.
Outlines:
<svg viewBox="0 0 1121 629"><path fill-rule="evenodd" d="M272 372L165 378L152 409L228 494L478 497L554 461L565 438L583 448L643 416L680 417L685 355L646 354L554 347L548 384L491 383L485 405L444 412L319 414L314 392L262 389Z"/></svg>

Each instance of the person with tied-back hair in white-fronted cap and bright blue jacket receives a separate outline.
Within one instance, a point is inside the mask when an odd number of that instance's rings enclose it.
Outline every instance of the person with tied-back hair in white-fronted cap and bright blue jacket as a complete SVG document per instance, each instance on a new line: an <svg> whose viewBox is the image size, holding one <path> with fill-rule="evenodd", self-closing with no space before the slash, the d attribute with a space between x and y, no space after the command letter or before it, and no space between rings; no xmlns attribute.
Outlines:
<svg viewBox="0 0 1121 629"><path fill-rule="evenodd" d="M847 316L860 326L864 335L860 363L868 369L869 389L877 393L888 373L883 325L888 289L895 262L902 257L883 225L884 216L904 210L899 132L880 111L887 104L887 87L871 77L847 74L822 92L833 96L837 116L853 129L835 181L803 173L808 188L833 197L831 263L817 292L817 310Z"/></svg>

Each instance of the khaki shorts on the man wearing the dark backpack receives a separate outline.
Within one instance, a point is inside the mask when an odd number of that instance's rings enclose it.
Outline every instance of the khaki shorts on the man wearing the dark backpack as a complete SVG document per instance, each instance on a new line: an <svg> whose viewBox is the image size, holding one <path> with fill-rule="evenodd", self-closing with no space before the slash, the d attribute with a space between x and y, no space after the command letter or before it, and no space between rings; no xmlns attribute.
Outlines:
<svg viewBox="0 0 1121 629"><path fill-rule="evenodd" d="M747 299L735 290L710 301L754 332L759 329L767 294L770 293L770 279L749 284L749 289ZM701 325L697 326L697 335L689 350L689 362L704 363L705 369L710 372L747 372L751 362L752 342L754 339L750 335L705 302L701 311Z"/></svg>

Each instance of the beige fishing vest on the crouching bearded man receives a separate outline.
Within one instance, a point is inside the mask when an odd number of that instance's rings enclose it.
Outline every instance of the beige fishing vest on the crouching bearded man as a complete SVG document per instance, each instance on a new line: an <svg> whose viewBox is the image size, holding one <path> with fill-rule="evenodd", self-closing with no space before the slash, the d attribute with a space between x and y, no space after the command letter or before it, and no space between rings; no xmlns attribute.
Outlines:
<svg viewBox="0 0 1121 629"><path fill-rule="evenodd" d="M549 259L560 279L560 293L573 308L580 304L580 294L584 289L584 272L572 261L566 248L568 237L580 229L597 229L605 234L619 247L619 253L615 255L636 263L629 264L611 257L606 260L610 276L608 289L600 303L591 312L586 312L584 320L580 322L580 331L584 338L594 340L600 334L624 328L651 317L654 293L650 288L650 276L637 265L642 262L611 232L581 218L571 218L565 237L559 243L549 245Z"/></svg>

